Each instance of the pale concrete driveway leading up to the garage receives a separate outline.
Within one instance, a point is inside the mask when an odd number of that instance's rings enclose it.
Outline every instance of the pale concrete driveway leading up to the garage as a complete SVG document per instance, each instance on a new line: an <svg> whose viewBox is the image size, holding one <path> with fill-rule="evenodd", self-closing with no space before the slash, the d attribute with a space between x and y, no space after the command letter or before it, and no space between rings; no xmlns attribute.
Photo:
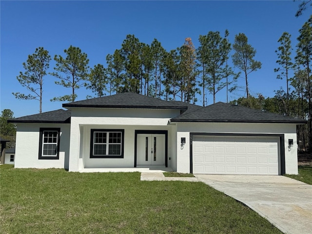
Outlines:
<svg viewBox="0 0 312 234"><path fill-rule="evenodd" d="M195 175L287 234L312 233L312 185L286 176Z"/></svg>

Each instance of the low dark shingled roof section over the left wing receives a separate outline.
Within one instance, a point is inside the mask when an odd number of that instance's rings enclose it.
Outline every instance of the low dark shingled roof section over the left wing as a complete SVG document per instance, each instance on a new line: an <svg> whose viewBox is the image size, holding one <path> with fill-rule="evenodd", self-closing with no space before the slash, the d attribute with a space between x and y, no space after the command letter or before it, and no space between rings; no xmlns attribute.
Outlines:
<svg viewBox="0 0 312 234"><path fill-rule="evenodd" d="M71 111L59 109L31 116L12 118L8 123L70 123Z"/></svg>

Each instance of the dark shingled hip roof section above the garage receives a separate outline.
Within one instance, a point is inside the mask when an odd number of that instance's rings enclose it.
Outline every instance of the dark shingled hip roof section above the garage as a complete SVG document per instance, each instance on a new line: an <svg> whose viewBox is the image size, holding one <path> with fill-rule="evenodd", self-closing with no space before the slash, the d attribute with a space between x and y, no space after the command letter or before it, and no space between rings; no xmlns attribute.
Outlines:
<svg viewBox="0 0 312 234"><path fill-rule="evenodd" d="M307 123L303 119L295 119L223 102L217 102L187 115L182 114L172 118L171 122Z"/></svg>

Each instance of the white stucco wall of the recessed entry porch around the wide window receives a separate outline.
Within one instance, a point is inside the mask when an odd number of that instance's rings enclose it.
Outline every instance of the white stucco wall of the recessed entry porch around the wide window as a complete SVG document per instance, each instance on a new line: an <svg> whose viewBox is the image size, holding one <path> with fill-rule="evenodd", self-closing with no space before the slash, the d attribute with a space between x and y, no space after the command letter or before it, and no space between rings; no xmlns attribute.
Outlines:
<svg viewBox="0 0 312 234"><path fill-rule="evenodd" d="M176 161L172 149L172 128L170 117L179 110L141 109L72 109L69 171L82 168L132 168L134 167L135 130L168 131L168 166ZM104 117L103 117L104 116ZM123 158L90 158L91 129L124 129Z"/></svg>

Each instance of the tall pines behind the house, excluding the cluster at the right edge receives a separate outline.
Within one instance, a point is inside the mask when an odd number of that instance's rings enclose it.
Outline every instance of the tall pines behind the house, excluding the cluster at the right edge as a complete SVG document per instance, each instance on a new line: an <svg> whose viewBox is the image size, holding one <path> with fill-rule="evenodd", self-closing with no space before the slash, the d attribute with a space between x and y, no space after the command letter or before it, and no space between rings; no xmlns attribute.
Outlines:
<svg viewBox="0 0 312 234"><path fill-rule="evenodd" d="M64 50L65 56L55 55L56 66L48 72L51 56L43 47L35 50L24 62L24 72L17 77L22 86L31 94L13 93L19 99L38 99L42 110L42 89L45 76L57 78L55 83L70 88L71 92L51 101L75 101L77 89L85 87L94 93L94 97L121 92L135 92L165 100L182 100L195 103L198 95L202 105L206 105L207 93L214 97L223 88L234 90L234 82L240 73L234 73L229 66L229 54L232 49L233 64L246 78L261 68L261 62L255 61L255 49L248 44L246 35L235 36L232 47L228 39L220 32L209 32L199 36L200 46L196 49L192 39L186 38L180 47L166 51L161 43L154 39L151 44L141 42L135 35L127 35L120 49L106 56L106 66L97 64L89 67L89 59L79 47L70 46ZM89 96L92 98L92 96Z"/></svg>

